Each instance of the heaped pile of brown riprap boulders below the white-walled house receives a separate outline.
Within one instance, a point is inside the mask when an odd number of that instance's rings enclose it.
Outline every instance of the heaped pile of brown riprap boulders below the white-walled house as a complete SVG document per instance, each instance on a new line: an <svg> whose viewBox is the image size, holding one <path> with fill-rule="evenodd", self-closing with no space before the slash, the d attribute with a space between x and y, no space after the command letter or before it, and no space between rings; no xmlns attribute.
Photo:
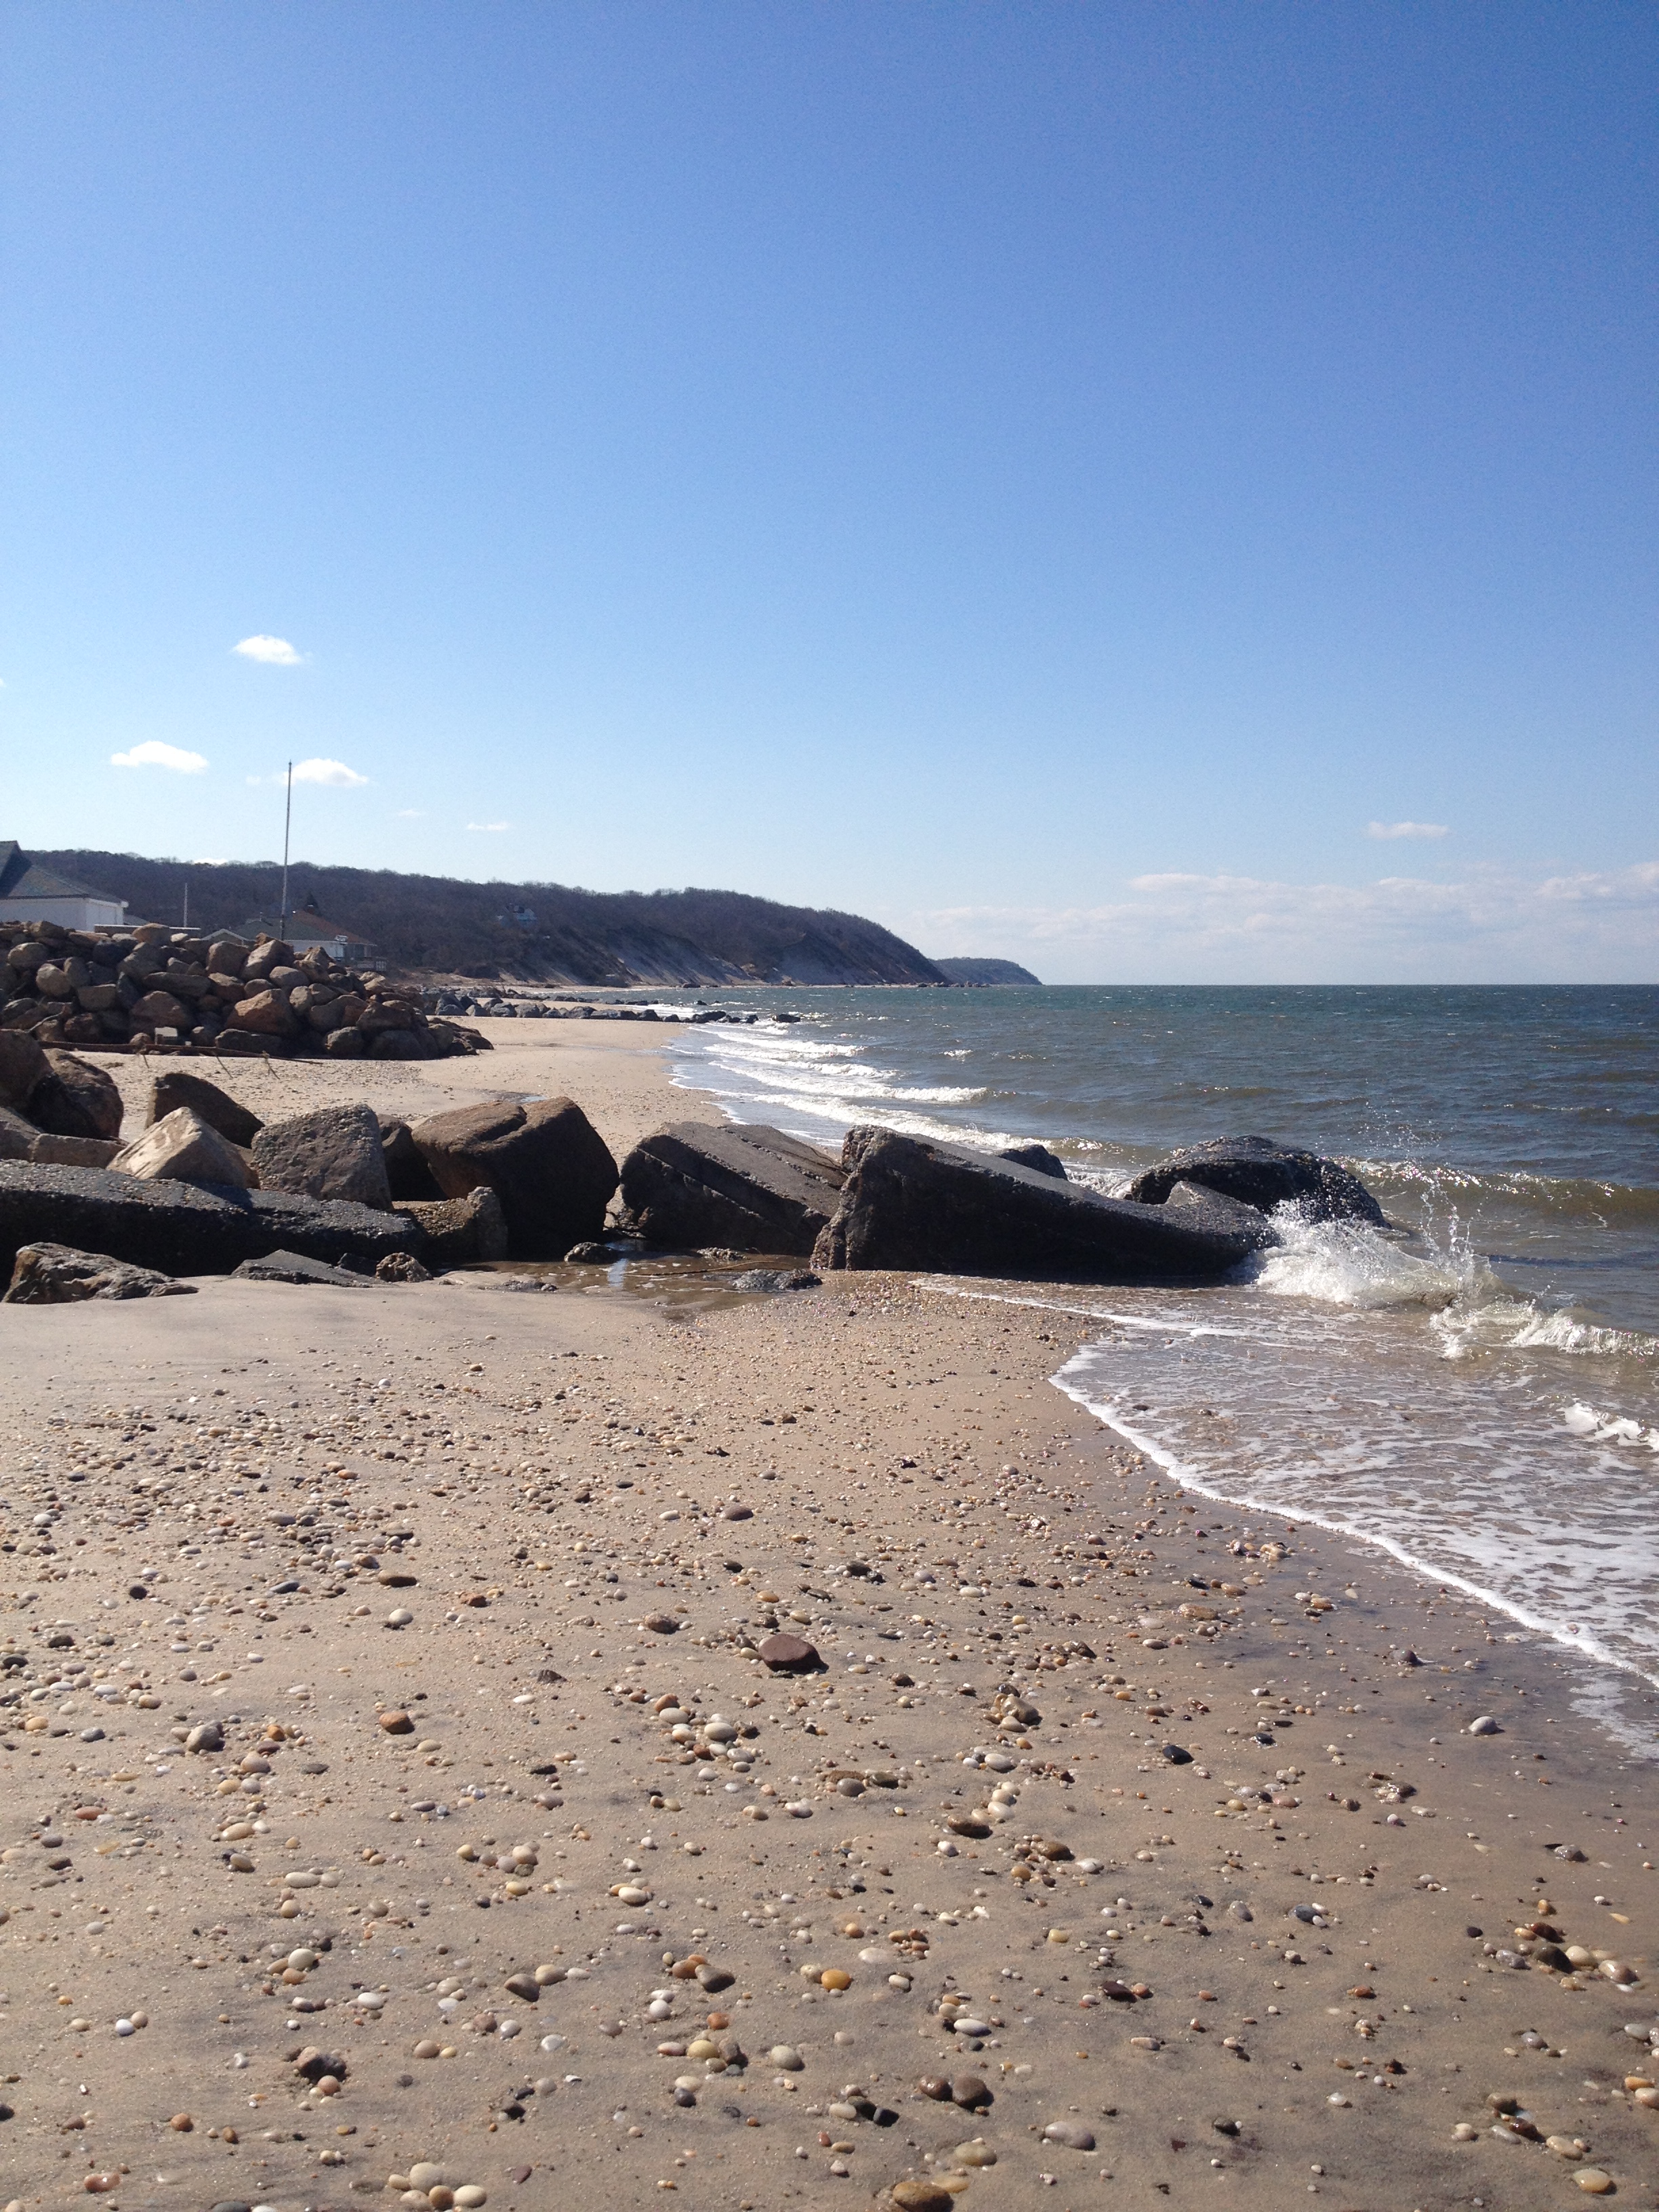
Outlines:
<svg viewBox="0 0 1659 2212"><path fill-rule="evenodd" d="M489 1051L473 1029L431 1018L420 991L358 973L323 947L210 938L142 922L64 929L0 922L0 1029L42 1046L265 1053L332 1060L445 1060ZM69 1133L66 1133L69 1135Z"/></svg>

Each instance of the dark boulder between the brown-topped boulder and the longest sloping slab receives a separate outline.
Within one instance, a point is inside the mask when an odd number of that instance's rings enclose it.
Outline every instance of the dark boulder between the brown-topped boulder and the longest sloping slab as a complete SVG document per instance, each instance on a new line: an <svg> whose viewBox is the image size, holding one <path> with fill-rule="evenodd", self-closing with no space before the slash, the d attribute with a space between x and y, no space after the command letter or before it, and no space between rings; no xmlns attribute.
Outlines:
<svg viewBox="0 0 1659 2212"><path fill-rule="evenodd" d="M812 1252L841 1203L841 1164L761 1124L675 1121L622 1164L622 1203L653 1245Z"/></svg>

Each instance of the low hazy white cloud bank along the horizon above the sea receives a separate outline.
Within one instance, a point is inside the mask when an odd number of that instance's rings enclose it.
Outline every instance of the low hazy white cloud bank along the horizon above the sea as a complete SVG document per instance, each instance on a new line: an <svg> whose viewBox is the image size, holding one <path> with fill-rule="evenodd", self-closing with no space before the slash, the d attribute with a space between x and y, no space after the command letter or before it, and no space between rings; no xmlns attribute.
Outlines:
<svg viewBox="0 0 1659 2212"><path fill-rule="evenodd" d="M1095 907L956 907L905 931L942 956L1018 960L1075 982L1648 982L1659 860L1462 883L1135 876Z"/></svg>

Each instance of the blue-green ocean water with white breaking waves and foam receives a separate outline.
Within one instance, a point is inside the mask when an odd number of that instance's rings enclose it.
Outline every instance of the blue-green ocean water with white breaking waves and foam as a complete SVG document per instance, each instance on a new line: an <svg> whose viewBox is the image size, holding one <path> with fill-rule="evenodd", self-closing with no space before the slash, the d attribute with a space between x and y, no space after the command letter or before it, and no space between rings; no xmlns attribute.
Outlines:
<svg viewBox="0 0 1659 2212"><path fill-rule="evenodd" d="M1345 1159L1206 1290L1077 1290L1060 1389L1186 1484L1378 1546L1584 1659L1659 1756L1659 989L743 993L677 1079L834 1146L1033 1137L1119 1190L1206 1137ZM1015 1292L1020 1294L1020 1292Z"/></svg>

